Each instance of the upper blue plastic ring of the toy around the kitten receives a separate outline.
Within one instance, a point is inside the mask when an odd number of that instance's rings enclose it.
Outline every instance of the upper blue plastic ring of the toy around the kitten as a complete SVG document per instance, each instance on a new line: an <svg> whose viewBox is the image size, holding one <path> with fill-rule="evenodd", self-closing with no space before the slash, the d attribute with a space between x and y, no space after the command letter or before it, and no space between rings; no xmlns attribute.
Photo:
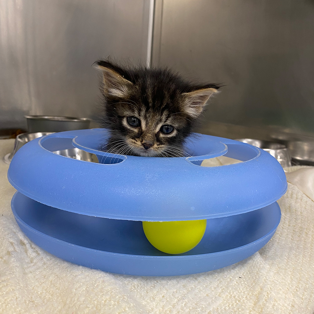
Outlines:
<svg viewBox="0 0 314 314"><path fill-rule="evenodd" d="M250 212L278 200L287 189L280 164L246 143L198 134L187 142L193 157L113 155L98 150L104 129L54 133L26 143L8 170L10 183L40 203L111 219L171 221ZM54 154L78 147L102 162ZM225 155L244 162L199 166Z"/></svg>

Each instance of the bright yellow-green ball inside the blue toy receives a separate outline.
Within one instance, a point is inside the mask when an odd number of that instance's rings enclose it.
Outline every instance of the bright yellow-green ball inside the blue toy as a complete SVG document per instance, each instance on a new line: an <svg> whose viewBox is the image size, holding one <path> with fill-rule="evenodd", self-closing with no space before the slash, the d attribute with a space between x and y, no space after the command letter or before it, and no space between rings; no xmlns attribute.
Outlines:
<svg viewBox="0 0 314 314"><path fill-rule="evenodd" d="M180 254L198 245L205 233L206 222L206 219L143 221L143 230L156 249L169 254Z"/></svg>

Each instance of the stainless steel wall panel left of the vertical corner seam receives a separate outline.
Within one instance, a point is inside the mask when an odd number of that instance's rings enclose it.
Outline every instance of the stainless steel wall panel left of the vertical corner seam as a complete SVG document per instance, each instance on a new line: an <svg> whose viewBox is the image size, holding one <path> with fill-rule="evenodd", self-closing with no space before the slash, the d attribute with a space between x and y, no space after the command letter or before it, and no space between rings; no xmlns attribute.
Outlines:
<svg viewBox="0 0 314 314"><path fill-rule="evenodd" d="M89 117L91 64L146 62L149 0L0 0L0 128L25 114Z"/></svg>

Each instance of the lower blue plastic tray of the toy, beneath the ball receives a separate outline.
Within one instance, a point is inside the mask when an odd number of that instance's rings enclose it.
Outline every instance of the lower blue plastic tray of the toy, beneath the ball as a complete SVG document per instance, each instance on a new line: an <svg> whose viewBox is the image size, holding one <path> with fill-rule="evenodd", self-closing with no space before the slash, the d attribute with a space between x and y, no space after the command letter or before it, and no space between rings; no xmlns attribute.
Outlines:
<svg viewBox="0 0 314 314"><path fill-rule="evenodd" d="M195 248L170 255L149 243L141 221L75 214L19 192L11 207L21 230L47 252L78 265L139 276L202 273L237 263L270 240L281 215L275 202L245 214L208 219Z"/></svg>

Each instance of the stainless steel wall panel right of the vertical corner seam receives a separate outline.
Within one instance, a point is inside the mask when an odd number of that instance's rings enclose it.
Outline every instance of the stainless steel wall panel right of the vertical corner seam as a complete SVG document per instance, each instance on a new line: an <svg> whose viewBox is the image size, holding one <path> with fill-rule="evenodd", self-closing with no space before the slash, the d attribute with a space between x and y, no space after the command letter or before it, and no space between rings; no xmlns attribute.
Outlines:
<svg viewBox="0 0 314 314"><path fill-rule="evenodd" d="M153 64L226 84L203 132L210 120L314 132L313 0L156 0Z"/></svg>

